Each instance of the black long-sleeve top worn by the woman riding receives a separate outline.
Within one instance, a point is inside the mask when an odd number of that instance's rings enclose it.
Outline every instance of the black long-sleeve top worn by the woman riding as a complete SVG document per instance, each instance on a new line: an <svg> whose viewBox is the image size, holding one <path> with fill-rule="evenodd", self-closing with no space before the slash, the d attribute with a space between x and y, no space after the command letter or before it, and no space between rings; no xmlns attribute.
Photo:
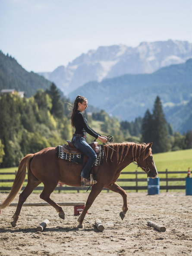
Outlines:
<svg viewBox="0 0 192 256"><path fill-rule="evenodd" d="M98 136L101 136L100 134L96 133L93 129L91 129L88 126L87 119L84 117L81 111L77 110L73 117L72 122L75 126L75 133L82 134L86 136L86 132L93 136L95 139L98 138Z"/></svg>

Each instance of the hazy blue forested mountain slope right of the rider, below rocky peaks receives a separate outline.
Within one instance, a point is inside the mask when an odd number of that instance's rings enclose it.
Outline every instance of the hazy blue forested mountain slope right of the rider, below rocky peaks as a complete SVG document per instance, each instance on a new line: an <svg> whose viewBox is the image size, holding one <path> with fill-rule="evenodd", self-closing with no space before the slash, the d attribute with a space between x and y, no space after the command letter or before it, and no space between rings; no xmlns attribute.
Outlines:
<svg viewBox="0 0 192 256"><path fill-rule="evenodd" d="M179 132L192 130L192 59L152 74L127 74L88 82L70 93L69 98L74 99L79 94L95 107L128 121L143 117L147 109L151 111L158 95L173 129Z"/></svg>

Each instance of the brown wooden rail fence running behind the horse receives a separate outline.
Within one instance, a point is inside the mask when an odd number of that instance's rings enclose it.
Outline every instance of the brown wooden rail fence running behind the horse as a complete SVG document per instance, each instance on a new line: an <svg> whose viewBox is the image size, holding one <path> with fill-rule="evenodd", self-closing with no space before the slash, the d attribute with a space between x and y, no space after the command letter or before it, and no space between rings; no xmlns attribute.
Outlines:
<svg viewBox="0 0 192 256"><path fill-rule="evenodd" d="M16 174L16 173L0 173L0 175L13 175L13 174ZM147 186L147 178L138 178L138 174L144 174L144 172L139 172L137 170L135 170L135 172L122 172L121 173L121 177L122 175L124 174L135 174L135 178L131 178L131 179L123 179L123 178L120 178L117 180L117 183L126 183L126 182L133 182L135 183L134 186L121 186L124 190L135 190L136 192L138 192L138 190L148 190L148 186ZM169 182L170 181L185 181L186 180L186 175L187 175L187 171L159 171L158 174L165 174L165 178L161 178L160 177L160 190L185 190L186 189L186 186L185 185L169 185ZM183 174L183 178L169 178L168 177L168 174ZM5 182L13 182L14 179L0 179L0 192L9 192L11 190L11 186L3 186L3 183ZM164 181L165 185L161 185L161 182ZM27 180L25 180L25 182L27 182ZM146 185L145 186L139 186L138 183L140 182L145 182ZM24 190L25 189L25 186L22 187L21 190ZM43 190L44 189L44 186L38 186L35 188L35 190ZM87 190L87 187L72 187L72 186L66 186L66 185L63 185L63 186L57 186L55 188L55 190L58 190L58 192L60 192L61 190L75 190L75 191L81 191L81 190ZM104 190L107 190L104 188Z"/></svg>

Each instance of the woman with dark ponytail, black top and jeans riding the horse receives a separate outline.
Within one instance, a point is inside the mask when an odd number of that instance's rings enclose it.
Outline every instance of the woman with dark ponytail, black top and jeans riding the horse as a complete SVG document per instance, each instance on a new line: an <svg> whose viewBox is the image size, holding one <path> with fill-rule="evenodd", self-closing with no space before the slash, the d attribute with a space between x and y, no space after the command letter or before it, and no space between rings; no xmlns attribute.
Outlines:
<svg viewBox="0 0 192 256"><path fill-rule="evenodd" d="M87 103L88 101L85 97L78 95L74 101L72 115L70 118L72 127L76 129L72 136L72 143L77 149L88 156L88 161L81 172L81 186L90 186L90 180L88 180L88 178L94 161L97 158L94 150L85 141L86 132L95 139L99 139L101 142L107 142L106 136L101 136L88 126L87 120L82 114L82 112L88 107ZM97 183L96 180L94 180L94 184L95 183Z"/></svg>

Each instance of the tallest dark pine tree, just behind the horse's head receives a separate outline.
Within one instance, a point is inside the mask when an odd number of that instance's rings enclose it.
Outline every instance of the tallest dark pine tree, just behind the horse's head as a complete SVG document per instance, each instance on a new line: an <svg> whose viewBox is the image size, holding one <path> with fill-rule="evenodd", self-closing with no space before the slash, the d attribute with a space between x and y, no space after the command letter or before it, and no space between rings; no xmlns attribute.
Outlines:
<svg viewBox="0 0 192 256"><path fill-rule="evenodd" d="M167 152L170 150L170 142L168 139L167 121L159 96L157 96L154 102L152 118L153 152Z"/></svg>

